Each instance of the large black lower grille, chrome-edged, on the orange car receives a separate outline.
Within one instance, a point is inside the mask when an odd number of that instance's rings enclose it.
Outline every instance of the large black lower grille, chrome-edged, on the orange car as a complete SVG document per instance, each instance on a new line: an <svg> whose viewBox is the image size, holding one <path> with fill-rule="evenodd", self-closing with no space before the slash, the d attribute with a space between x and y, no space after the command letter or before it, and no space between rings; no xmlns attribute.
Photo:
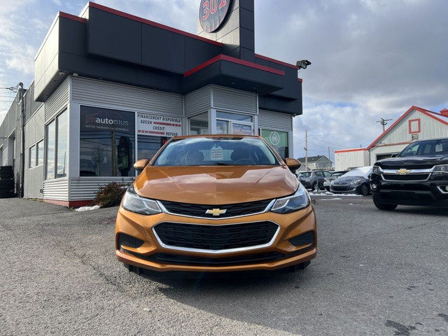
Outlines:
<svg viewBox="0 0 448 336"><path fill-rule="evenodd" d="M267 245L278 230L279 225L268 221L231 225L163 222L153 228L158 240L166 247L202 251Z"/></svg>

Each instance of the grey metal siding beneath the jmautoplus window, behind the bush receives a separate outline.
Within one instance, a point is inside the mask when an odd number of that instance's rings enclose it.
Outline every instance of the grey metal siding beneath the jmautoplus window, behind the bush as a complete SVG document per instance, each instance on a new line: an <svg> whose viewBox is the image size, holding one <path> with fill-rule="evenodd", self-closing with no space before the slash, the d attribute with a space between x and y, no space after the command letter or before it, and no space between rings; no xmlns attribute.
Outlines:
<svg viewBox="0 0 448 336"><path fill-rule="evenodd" d="M93 200L99 188L111 182L132 183L132 177L95 177L95 178L71 178L70 200L83 201Z"/></svg>

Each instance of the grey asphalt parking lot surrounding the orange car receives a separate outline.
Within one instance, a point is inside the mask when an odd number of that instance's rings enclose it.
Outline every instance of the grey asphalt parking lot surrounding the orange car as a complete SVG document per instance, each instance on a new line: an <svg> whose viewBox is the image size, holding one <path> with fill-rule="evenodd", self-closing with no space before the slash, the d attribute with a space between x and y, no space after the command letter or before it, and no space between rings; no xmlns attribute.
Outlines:
<svg viewBox="0 0 448 336"><path fill-rule="evenodd" d="M2 335L448 335L448 209L313 194L295 273L129 273L117 208L0 200Z"/></svg>

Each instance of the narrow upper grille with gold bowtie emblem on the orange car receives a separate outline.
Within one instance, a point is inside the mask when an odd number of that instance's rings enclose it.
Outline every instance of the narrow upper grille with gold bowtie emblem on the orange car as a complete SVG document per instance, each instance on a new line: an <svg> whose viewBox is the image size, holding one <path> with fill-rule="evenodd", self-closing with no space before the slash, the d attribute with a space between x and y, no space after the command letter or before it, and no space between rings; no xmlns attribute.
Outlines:
<svg viewBox="0 0 448 336"><path fill-rule="evenodd" d="M272 200L262 200L257 202L246 202L237 204L220 204L220 205L202 205L160 201L160 203L167 209L170 214L178 214L181 216L191 216L200 218L229 218L237 216L247 216L251 214L259 214L264 212ZM213 209L225 210L225 214L214 216L213 214L206 214L207 210Z"/></svg>

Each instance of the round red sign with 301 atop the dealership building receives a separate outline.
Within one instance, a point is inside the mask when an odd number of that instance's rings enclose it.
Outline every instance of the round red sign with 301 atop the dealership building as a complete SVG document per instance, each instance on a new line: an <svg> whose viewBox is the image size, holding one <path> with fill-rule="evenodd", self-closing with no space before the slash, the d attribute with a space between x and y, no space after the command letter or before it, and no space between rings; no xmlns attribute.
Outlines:
<svg viewBox="0 0 448 336"><path fill-rule="evenodd" d="M199 7L199 21L207 33L218 29L223 23L230 7L231 0L201 0Z"/></svg>

